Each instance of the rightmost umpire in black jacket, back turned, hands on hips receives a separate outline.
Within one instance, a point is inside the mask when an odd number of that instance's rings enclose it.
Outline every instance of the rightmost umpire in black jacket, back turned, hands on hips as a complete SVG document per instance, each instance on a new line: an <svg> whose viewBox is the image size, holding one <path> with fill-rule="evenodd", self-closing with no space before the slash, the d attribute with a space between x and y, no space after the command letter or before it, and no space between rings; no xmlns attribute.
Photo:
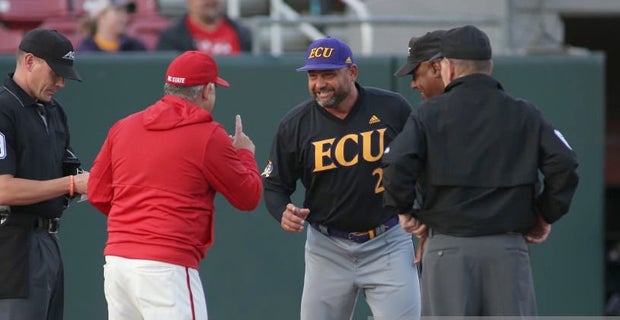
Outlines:
<svg viewBox="0 0 620 320"><path fill-rule="evenodd" d="M399 213L410 212L416 180L426 178L422 315L534 316L527 243L544 241L568 211L575 153L532 103L490 76L481 30L449 30L430 60L438 57L445 93L412 112L382 160L384 204Z"/></svg>

